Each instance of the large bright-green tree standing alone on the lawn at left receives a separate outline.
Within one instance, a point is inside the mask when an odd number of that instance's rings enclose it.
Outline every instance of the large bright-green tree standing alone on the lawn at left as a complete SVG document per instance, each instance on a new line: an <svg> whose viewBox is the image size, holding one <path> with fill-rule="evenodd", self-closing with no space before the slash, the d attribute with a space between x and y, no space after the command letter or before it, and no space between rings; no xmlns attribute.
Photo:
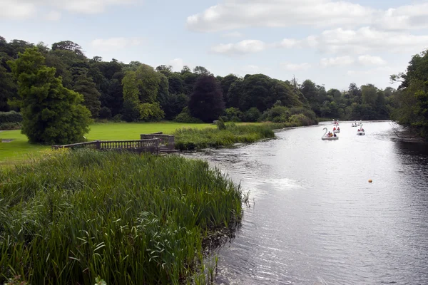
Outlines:
<svg viewBox="0 0 428 285"><path fill-rule="evenodd" d="M21 108L21 133L29 142L67 144L81 141L88 133L91 112L81 105L83 96L64 88L55 68L44 65L38 48L27 48L9 61L18 79L18 96L12 105Z"/></svg>

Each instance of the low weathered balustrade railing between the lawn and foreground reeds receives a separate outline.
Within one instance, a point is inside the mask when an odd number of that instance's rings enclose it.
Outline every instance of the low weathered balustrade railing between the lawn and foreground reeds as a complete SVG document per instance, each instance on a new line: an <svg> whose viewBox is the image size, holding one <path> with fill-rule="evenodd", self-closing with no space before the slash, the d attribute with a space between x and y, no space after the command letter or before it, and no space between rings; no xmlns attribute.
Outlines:
<svg viewBox="0 0 428 285"><path fill-rule="evenodd" d="M91 148L94 150L130 150L134 152L159 152L158 138L146 140L94 140L93 142L80 142L71 145L53 145L52 148L58 150L60 148Z"/></svg>

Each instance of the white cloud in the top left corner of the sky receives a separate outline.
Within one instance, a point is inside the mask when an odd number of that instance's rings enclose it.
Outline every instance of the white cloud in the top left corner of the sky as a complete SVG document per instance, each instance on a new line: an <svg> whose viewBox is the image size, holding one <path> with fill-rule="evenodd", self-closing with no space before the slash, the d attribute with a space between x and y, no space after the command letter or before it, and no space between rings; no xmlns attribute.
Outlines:
<svg viewBox="0 0 428 285"><path fill-rule="evenodd" d="M0 0L0 19L29 19L44 11L52 10L45 19L58 19L58 11L72 11L83 14L102 13L108 6L130 4L141 0Z"/></svg>

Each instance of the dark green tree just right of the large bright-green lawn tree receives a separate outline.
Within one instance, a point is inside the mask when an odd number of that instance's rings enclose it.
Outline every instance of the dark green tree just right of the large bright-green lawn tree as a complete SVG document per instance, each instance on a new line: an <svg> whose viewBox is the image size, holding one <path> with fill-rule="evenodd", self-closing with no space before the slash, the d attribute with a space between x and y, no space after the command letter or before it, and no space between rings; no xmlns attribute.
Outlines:
<svg viewBox="0 0 428 285"><path fill-rule="evenodd" d="M98 118L98 113L101 110L101 102L99 100L101 94L96 90L95 86L92 78L82 74L78 76L73 87L73 90L83 95L83 105L91 111L92 118Z"/></svg>

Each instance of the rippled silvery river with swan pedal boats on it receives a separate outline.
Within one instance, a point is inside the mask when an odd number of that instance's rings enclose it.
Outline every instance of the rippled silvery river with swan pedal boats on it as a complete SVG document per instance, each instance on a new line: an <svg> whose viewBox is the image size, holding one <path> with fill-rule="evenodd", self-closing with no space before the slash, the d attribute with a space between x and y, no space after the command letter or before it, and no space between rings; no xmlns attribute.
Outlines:
<svg viewBox="0 0 428 285"><path fill-rule="evenodd" d="M217 284L428 284L428 145L395 140L390 122L365 136L341 123L333 141L326 126L188 155L250 191Z"/></svg>

